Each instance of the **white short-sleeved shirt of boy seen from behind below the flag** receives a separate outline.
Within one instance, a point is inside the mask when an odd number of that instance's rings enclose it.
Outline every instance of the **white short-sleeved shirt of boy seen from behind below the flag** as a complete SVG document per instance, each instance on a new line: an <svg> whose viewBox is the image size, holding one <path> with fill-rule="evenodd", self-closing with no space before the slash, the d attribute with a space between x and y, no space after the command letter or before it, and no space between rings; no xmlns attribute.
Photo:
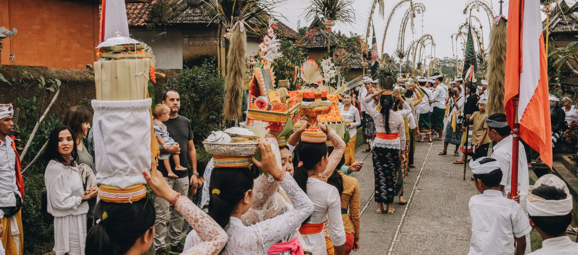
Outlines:
<svg viewBox="0 0 578 255"><path fill-rule="evenodd" d="M523 237L532 227L516 201L499 190L484 190L470 198L472 240L468 255L514 254L514 237Z"/></svg>

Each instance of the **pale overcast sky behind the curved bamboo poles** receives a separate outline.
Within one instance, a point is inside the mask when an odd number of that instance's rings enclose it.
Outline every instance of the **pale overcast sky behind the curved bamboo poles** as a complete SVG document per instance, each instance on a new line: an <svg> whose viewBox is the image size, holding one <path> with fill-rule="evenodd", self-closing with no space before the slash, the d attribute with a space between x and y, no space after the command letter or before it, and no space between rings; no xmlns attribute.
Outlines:
<svg viewBox="0 0 578 255"><path fill-rule="evenodd" d="M528 0L527 0L528 1ZM534 0L538 1L538 0ZM349 32L358 33L362 37L365 36L365 27L368 22L368 14L370 11L370 5L372 4L372 0L354 0L354 9L355 9L355 17L357 18L357 22L353 25L347 24L336 24L333 28L335 31L341 31L346 35L349 35ZM399 0L384 0L385 3L385 17L381 18L379 16L379 7L376 7L375 13L373 14L373 24L375 25L375 33L377 38L377 47L381 52L381 39L383 38L384 29L387 23L387 19L391 12L392 7L397 4ZM404 48L412 42L414 39L418 39L423 34L432 35L433 40L436 44L435 48L435 55L438 58L443 57L453 57L452 54L452 46L451 46L451 35L453 33L458 32L458 28L461 24L464 24L466 20L466 15L464 14L464 9L466 7L466 3L469 1L467 0L414 0L414 3L423 3L425 5L425 12L423 14L423 22L422 22L422 14L417 14L416 18L414 18L414 31L415 33L412 35L410 22L407 24L406 28L406 40ZM499 2L498 0L485 0L488 6L492 7L493 5L493 12L494 16L499 14ZM572 5L576 0L566 0L566 2ZM509 0L505 0L503 3L503 14L507 17L507 10L509 6ZM277 12L283 13L283 15L287 18L284 20L281 18L281 21L288 24L291 28L297 30L297 22L301 20L301 27L305 25L309 25L309 22L305 20L302 16L303 8L309 5L309 0L288 0L283 6L276 7L275 10ZM390 27L387 31L386 42L384 44L384 52L389 53L390 55L397 47L398 42L398 34L399 34L399 27L401 25L401 20L403 14L405 14L406 10L409 9L409 3L402 5L392 17L392 21L390 23ZM477 16L481 22L483 28L483 37L484 37L484 44L487 47L489 42L490 36L490 20L484 12L483 9L480 8L480 12L476 12L476 9L473 10L473 15ZM543 14L543 13L542 13ZM546 16L543 14L543 18ZM477 24L477 22L476 22ZM423 33L422 33L422 25L423 25ZM369 37L369 42L371 40L371 35ZM460 40L458 40L460 43ZM426 54L429 53L429 47L426 51ZM476 48L476 52L479 51ZM457 57L462 58L462 47L455 46L454 40L454 52Z"/></svg>

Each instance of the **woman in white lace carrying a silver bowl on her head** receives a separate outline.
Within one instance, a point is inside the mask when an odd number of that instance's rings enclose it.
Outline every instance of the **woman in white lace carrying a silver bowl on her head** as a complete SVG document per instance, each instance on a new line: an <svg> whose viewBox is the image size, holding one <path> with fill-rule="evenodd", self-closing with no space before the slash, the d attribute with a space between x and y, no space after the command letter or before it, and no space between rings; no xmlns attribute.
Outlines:
<svg viewBox="0 0 578 255"><path fill-rule="evenodd" d="M209 215L224 228L229 237L227 245L220 253L223 255L267 254L279 240L295 232L313 211L311 200L299 189L291 175L281 171L271 149L271 143L264 139L258 143L262 160L258 162L253 158L253 163L279 182L279 186L291 200L293 208L251 226L245 226L241 219L253 204L253 172L249 168L213 168L209 183L211 194ZM201 242L201 238L197 232L191 231L187 235L184 247L187 249L198 242ZM298 239L285 245L301 247Z"/></svg>

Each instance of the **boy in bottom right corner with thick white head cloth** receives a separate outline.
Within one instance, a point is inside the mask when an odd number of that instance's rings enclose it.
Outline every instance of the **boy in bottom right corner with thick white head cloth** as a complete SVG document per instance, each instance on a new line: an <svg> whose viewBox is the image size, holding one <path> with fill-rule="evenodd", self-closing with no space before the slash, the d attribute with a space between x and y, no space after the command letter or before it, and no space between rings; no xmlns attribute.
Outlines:
<svg viewBox="0 0 578 255"><path fill-rule="evenodd" d="M578 254L578 243L566 235L572 222L572 196L566 183L553 174L528 186L530 224L542 237L542 248L532 255Z"/></svg>

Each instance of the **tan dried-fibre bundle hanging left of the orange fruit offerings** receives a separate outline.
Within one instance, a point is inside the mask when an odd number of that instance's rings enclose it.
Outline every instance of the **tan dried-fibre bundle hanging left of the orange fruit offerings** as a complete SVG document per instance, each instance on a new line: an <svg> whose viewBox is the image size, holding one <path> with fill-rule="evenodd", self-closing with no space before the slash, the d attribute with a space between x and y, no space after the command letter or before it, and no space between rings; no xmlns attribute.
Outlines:
<svg viewBox="0 0 578 255"><path fill-rule="evenodd" d="M239 24L239 23L238 23ZM223 113L225 119L235 121L241 118L243 103L243 75L245 65L245 48L247 48L247 33L240 25L236 25L231 34L231 46L228 52L227 77L225 78L225 104Z"/></svg>

